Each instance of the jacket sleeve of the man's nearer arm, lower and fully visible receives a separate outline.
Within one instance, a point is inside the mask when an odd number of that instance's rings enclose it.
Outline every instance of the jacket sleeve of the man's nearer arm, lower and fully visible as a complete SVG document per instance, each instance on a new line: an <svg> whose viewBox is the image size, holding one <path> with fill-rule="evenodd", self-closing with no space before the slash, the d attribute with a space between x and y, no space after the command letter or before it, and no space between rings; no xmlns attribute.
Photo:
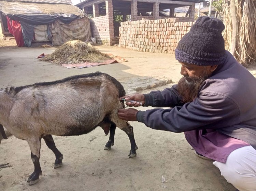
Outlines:
<svg viewBox="0 0 256 191"><path fill-rule="evenodd" d="M195 129L218 129L241 121L239 107L232 99L209 92L200 94L193 102L183 106L139 111L137 120L152 129L175 133Z"/></svg>

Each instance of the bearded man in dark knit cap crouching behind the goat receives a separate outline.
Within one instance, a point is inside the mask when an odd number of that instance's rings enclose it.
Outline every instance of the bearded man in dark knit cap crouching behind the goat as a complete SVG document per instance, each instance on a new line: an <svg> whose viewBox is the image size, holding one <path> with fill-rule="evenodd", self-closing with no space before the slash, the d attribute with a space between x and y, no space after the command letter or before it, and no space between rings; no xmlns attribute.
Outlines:
<svg viewBox="0 0 256 191"><path fill-rule="evenodd" d="M178 84L120 98L170 109L120 109L118 116L153 129L185 132L196 154L214 160L229 183L240 191L256 191L256 79L225 50L224 28L221 20L199 17L175 50L184 76Z"/></svg>

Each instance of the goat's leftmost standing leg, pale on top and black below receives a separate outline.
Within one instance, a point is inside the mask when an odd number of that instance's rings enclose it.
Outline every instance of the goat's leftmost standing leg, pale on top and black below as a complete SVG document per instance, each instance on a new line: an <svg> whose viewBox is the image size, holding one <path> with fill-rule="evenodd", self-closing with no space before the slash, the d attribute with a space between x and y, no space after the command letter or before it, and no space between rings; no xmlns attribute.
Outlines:
<svg viewBox="0 0 256 191"><path fill-rule="evenodd" d="M42 175L42 170L40 167L39 159L40 159L40 149L41 149L41 139L40 138L31 138L28 141L30 150L31 150L31 159L34 163L34 172L29 176L27 182L29 182L29 186L38 183L39 175Z"/></svg>

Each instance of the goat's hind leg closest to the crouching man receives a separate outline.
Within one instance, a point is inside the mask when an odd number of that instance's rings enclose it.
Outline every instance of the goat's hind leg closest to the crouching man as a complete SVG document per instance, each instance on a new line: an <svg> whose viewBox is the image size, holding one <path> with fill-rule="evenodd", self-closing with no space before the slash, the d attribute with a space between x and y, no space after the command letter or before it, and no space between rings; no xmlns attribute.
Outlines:
<svg viewBox="0 0 256 191"><path fill-rule="evenodd" d="M115 123L115 125L122 129L129 137L130 143L131 143L131 150L129 153L129 158L136 157L137 153L136 150L138 149L138 146L135 143L134 134L133 134L133 127L127 122L122 119L119 119L117 116L117 111L114 112L110 116L110 120Z"/></svg>

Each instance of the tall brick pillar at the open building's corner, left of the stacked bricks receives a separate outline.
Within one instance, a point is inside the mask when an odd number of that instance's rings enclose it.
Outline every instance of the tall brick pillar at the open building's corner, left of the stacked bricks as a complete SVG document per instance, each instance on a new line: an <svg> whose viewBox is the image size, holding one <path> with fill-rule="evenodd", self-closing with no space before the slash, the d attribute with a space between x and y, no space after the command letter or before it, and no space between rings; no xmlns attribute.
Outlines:
<svg viewBox="0 0 256 191"><path fill-rule="evenodd" d="M106 15L109 20L109 45L114 44L114 13L112 0L106 0Z"/></svg>

